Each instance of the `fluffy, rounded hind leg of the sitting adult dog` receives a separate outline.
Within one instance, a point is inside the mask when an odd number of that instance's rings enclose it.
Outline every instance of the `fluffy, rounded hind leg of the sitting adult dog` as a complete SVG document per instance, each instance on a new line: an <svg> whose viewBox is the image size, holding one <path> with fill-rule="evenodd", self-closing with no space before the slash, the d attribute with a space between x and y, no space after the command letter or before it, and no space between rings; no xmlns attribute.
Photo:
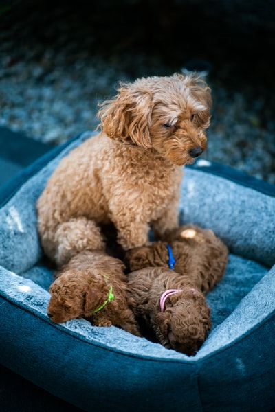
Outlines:
<svg viewBox="0 0 275 412"><path fill-rule="evenodd" d="M58 225L54 236L55 257L58 266L84 250L104 250L105 244L100 227L85 217L72 218Z"/></svg>

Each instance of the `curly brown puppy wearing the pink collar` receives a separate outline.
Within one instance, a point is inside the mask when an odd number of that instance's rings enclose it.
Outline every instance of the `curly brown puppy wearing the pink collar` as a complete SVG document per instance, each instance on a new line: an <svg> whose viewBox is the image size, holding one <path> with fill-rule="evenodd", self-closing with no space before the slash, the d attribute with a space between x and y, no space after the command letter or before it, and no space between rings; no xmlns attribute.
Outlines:
<svg viewBox="0 0 275 412"><path fill-rule="evenodd" d="M144 268L129 273L128 288L130 308L159 343L189 356L199 350L211 327L210 308L191 282L170 269ZM160 297L172 288L181 291L166 299L162 312Z"/></svg>

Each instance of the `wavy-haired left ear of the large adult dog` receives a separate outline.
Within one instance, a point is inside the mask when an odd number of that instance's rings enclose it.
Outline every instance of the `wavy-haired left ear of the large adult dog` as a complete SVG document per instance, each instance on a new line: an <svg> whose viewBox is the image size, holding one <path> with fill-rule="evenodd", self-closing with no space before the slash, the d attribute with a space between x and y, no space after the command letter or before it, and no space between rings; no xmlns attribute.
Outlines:
<svg viewBox="0 0 275 412"><path fill-rule="evenodd" d="M100 104L100 127L111 139L124 139L137 146L151 148L152 99L148 91L124 84L113 100Z"/></svg>

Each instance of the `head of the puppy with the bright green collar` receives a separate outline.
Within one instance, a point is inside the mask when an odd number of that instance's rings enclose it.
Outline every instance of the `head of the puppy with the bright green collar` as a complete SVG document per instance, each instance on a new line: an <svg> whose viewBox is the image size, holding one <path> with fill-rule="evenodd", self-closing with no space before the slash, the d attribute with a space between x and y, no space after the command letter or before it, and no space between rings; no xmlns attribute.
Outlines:
<svg viewBox="0 0 275 412"><path fill-rule="evenodd" d="M89 285L83 282L83 286L81 280L75 271L67 271L50 286L47 314L53 322L91 317L94 310L104 304L109 293L104 277Z"/></svg>

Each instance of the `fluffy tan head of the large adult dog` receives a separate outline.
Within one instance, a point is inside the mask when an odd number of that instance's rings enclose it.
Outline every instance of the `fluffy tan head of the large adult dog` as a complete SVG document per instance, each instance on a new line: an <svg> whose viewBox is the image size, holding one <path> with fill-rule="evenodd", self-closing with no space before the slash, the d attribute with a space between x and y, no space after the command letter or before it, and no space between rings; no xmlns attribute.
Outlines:
<svg viewBox="0 0 275 412"><path fill-rule="evenodd" d="M207 147L210 88L195 73L121 84L98 116L112 139L153 148L176 165L192 163Z"/></svg>

